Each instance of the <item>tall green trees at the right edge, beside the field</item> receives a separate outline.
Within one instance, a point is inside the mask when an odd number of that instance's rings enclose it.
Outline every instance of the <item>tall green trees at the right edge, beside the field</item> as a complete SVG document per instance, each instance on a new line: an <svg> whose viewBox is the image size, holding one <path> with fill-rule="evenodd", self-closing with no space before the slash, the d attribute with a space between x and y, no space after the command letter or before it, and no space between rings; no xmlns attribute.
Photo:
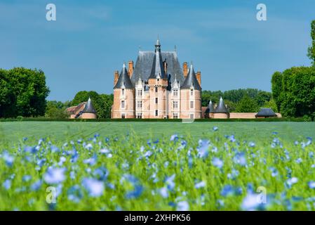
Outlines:
<svg viewBox="0 0 315 225"><path fill-rule="evenodd" d="M272 75L272 96L285 117L315 118L315 20L311 22L311 66L293 67Z"/></svg>

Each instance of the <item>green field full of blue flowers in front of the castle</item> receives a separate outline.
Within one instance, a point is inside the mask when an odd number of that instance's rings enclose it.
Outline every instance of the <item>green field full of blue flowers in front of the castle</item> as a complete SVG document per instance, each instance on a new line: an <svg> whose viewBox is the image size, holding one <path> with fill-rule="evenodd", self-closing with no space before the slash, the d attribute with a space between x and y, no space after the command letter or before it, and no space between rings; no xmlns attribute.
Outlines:
<svg viewBox="0 0 315 225"><path fill-rule="evenodd" d="M314 122L0 122L0 210L315 210L313 139Z"/></svg>

